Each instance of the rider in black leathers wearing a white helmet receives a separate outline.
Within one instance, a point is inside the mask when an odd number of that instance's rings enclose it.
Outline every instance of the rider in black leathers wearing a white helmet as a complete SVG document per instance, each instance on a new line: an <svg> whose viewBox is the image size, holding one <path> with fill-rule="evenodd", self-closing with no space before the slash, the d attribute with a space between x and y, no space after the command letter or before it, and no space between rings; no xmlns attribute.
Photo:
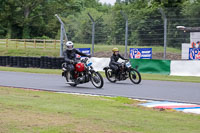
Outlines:
<svg viewBox="0 0 200 133"><path fill-rule="evenodd" d="M89 58L91 57L91 55L84 54L75 49L72 41L67 41L65 45L67 49L64 51L63 55L65 62L67 63L66 67L70 71L71 79L74 79L74 70L75 70L74 66L77 64L76 54L79 54L81 56L86 56Z"/></svg>

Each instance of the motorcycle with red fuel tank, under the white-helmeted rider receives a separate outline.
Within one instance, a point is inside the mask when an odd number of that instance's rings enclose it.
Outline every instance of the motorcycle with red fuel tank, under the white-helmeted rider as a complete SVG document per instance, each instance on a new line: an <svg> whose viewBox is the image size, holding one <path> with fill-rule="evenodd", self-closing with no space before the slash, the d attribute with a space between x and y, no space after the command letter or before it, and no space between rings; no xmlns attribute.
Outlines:
<svg viewBox="0 0 200 133"><path fill-rule="evenodd" d="M62 64L62 76L66 78L67 84L75 87L78 84L91 81L96 88L103 87L104 82L101 74L93 69L92 62L90 62L88 58L76 61L74 66L74 75L71 75L67 68L67 64Z"/></svg>

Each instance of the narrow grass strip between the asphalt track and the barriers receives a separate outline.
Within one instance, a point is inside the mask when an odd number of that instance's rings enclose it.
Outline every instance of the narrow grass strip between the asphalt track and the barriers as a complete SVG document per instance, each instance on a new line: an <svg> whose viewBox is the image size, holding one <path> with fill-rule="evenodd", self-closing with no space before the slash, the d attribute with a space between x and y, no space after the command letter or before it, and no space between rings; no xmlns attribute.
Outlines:
<svg viewBox="0 0 200 133"><path fill-rule="evenodd" d="M0 67L0 71L13 72L28 72L28 73L43 73L43 74L61 74L60 69L39 69L39 68L15 68L15 67ZM105 77L104 72L100 72ZM161 80L161 81L179 81L179 82L195 82L200 83L200 77L194 76L170 76L160 74L145 74L142 73L142 80Z"/></svg>

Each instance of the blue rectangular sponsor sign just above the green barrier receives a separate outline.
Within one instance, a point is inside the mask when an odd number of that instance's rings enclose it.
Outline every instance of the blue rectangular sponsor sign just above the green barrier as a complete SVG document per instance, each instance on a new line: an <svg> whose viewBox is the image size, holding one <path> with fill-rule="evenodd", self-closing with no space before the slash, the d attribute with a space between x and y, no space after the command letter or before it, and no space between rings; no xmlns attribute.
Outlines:
<svg viewBox="0 0 200 133"><path fill-rule="evenodd" d="M130 48L131 59L152 59L152 48Z"/></svg>

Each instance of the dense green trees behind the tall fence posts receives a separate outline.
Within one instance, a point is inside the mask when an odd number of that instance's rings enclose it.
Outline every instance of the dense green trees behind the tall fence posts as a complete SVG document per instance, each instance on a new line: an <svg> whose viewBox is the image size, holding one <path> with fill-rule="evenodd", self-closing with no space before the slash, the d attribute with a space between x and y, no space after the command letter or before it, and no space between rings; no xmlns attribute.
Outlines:
<svg viewBox="0 0 200 133"><path fill-rule="evenodd" d="M200 21L200 0L116 0L113 6L98 0L0 0L0 5L0 38L59 39L58 14L70 40L91 43L90 13L96 23L95 43L124 44L123 11L129 45L163 45L162 8L168 19L168 46L180 47L189 34L176 26L197 27Z"/></svg>

